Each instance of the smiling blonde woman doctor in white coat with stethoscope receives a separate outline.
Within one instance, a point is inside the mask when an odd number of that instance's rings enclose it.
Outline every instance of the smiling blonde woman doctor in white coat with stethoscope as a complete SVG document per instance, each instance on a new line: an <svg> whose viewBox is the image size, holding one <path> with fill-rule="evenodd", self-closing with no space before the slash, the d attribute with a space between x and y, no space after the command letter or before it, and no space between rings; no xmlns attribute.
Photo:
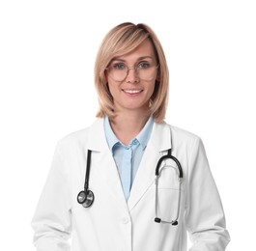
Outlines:
<svg viewBox="0 0 256 251"><path fill-rule="evenodd" d="M32 221L37 250L185 251L187 232L190 251L225 250L202 141L163 121L168 68L149 26L110 30L95 84L98 119L57 145Z"/></svg>

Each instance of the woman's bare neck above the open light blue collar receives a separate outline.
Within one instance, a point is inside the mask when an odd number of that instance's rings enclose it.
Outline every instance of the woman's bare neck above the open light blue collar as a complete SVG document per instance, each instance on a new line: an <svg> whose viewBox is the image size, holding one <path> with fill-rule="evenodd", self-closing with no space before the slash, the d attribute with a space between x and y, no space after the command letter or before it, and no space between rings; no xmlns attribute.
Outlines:
<svg viewBox="0 0 256 251"><path fill-rule="evenodd" d="M127 146L139 134L149 117L149 114L121 113L110 121L110 125L117 138Z"/></svg>

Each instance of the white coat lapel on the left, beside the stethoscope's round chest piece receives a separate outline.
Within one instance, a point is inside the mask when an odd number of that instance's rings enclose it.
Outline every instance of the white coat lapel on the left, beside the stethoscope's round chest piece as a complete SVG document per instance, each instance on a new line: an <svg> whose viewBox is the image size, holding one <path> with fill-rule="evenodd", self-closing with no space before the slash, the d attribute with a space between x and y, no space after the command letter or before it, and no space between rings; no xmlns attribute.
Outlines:
<svg viewBox="0 0 256 251"><path fill-rule="evenodd" d="M92 153L92 164L99 182L105 182L108 192L118 201L118 205L128 210L118 170L105 139L103 119L91 126L89 135L88 149L95 152Z"/></svg>

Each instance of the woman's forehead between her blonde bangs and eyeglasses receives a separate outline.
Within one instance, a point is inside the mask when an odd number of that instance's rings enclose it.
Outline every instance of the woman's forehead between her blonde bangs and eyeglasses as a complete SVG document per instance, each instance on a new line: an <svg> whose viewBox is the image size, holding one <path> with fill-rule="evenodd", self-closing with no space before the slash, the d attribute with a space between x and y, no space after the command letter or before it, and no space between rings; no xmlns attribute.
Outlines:
<svg viewBox="0 0 256 251"><path fill-rule="evenodd" d="M155 49L152 42L150 42L149 40L142 42L134 50L128 52L127 54L114 57L113 60L122 60L125 62L129 62L129 61L132 62L132 61L137 61L139 59L146 59L146 58L156 61Z"/></svg>

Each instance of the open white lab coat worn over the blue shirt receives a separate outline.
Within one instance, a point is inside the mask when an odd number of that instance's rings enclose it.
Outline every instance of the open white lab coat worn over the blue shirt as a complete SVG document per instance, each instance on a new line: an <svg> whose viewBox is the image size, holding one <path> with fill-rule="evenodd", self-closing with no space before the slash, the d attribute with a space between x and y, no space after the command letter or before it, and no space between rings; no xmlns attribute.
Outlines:
<svg viewBox="0 0 256 251"><path fill-rule="evenodd" d="M184 170L178 226L154 220L156 163L170 148ZM85 209L76 197L83 189L88 149L93 151L89 188L95 202ZM164 165L174 166L171 161L166 160ZM163 220L175 217L178 207L175 170L165 168L158 182L158 216ZM105 140L103 119L62 139L32 227L38 251L185 251L186 231L193 241L190 251L222 251L229 242L200 138L165 123L154 124L128 202Z"/></svg>

